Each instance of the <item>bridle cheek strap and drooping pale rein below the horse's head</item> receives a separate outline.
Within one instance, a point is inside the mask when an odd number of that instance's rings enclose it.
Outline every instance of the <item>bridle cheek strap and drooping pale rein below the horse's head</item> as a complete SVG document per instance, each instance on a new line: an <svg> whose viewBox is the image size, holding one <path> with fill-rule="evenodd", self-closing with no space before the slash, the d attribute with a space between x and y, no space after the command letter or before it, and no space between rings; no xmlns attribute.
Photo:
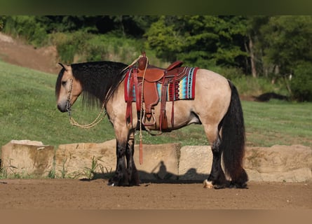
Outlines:
<svg viewBox="0 0 312 224"><path fill-rule="evenodd" d="M70 87L69 87L69 91L68 91L68 95L67 95L67 103L66 103L66 109L67 109L67 113L68 113L69 123L71 125L81 127L83 129L95 127L95 125L100 123L104 119L104 117L107 115L107 111L105 110L105 104L103 102L102 109L101 109L100 113L97 115L97 118L95 118L95 120L93 120L92 123L86 124L86 125L81 125L76 120L74 120L74 118L72 117L72 109L70 106L70 97L72 95L72 88L73 88L73 81L74 81L72 70L70 71L70 74L71 74ZM104 115L101 117L102 113L104 113Z"/></svg>

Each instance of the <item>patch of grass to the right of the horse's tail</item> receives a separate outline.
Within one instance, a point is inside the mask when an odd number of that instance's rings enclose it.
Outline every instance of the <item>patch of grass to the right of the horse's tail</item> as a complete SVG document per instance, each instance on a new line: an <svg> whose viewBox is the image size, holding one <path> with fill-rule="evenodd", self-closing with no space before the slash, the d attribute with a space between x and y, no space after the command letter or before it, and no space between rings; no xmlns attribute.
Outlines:
<svg viewBox="0 0 312 224"><path fill-rule="evenodd" d="M312 146L312 104L271 100L242 102L247 145L301 144Z"/></svg>

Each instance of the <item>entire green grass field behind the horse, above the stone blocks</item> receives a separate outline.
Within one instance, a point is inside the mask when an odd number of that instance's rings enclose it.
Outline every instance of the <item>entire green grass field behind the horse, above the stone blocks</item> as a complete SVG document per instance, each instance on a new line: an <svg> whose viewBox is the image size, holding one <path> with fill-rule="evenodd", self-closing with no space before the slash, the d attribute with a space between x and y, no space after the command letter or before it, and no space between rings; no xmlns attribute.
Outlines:
<svg viewBox="0 0 312 224"><path fill-rule="evenodd" d="M114 139L114 130L107 118L90 130L82 130L69 124L67 114L60 113L55 106L56 78L56 74L0 62L0 146L12 139L42 141L43 144L52 146ZM247 146L302 144L312 147L311 103L272 101L242 104ZM73 116L81 123L88 123L98 112L99 110L88 111L76 102ZM143 142L208 144L201 125L190 125L158 137L144 133Z"/></svg>

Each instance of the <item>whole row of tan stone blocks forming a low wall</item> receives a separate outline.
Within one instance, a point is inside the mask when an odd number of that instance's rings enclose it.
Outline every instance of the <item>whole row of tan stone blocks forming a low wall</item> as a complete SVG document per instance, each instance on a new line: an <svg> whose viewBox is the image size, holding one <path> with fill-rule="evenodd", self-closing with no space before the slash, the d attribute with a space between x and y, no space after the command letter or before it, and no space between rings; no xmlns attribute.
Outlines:
<svg viewBox="0 0 312 224"><path fill-rule="evenodd" d="M211 165L210 146L143 145L143 164L135 146L135 164L142 181L203 181ZM101 144L44 146L36 141L11 141L1 148L5 175L64 178L109 178L116 167L116 140ZM244 167L250 181L312 181L312 149L306 146L246 148Z"/></svg>

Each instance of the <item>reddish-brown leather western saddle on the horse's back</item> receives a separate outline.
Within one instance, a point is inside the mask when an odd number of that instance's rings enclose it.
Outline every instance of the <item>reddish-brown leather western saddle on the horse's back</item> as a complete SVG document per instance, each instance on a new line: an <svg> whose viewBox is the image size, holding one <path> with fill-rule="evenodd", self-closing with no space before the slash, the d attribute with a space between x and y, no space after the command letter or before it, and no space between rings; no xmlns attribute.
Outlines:
<svg viewBox="0 0 312 224"><path fill-rule="evenodd" d="M145 52L137 60L136 66L130 66L130 90L128 90L127 114L126 118L132 120L131 105L133 102L133 86L135 88L135 102L137 111L141 111L142 100L145 109L142 115L142 124L144 127L156 124L154 117L154 106L161 102L161 115L159 117L160 131L168 129L168 121L165 111L167 101L168 84L173 86L176 82L182 80L187 74L189 67L182 67L183 62L173 62L167 69L161 69L156 66L149 65ZM158 95L157 83L161 83L161 96ZM173 88L175 89L175 88ZM143 91L143 94L142 94ZM174 127L174 101L172 100L171 125Z"/></svg>

